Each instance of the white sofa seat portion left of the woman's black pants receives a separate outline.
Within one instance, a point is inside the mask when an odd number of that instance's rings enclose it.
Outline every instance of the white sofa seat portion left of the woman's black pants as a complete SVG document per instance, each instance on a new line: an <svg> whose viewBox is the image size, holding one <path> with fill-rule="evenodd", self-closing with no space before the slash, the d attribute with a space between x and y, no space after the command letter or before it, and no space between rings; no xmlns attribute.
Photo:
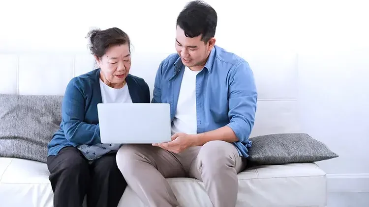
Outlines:
<svg viewBox="0 0 369 207"><path fill-rule="evenodd" d="M0 157L0 201L4 207L53 207L47 165Z"/></svg>

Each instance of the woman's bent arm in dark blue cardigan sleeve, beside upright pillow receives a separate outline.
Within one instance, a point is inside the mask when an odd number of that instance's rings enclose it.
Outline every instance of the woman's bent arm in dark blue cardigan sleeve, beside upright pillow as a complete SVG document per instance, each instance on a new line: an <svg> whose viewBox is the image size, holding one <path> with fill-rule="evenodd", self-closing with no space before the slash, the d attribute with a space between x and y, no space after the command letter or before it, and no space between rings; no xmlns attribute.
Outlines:
<svg viewBox="0 0 369 207"><path fill-rule="evenodd" d="M84 122L85 98L73 78L67 85L62 102L62 127L65 138L77 145L100 143L99 125Z"/></svg>

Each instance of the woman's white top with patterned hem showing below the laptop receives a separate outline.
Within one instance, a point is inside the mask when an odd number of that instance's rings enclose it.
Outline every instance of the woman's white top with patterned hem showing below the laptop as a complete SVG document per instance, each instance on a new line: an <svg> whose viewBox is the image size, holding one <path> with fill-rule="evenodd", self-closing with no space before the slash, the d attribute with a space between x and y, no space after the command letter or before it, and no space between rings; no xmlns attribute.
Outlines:
<svg viewBox="0 0 369 207"><path fill-rule="evenodd" d="M128 85L125 84L123 88L112 88L106 85L100 79L100 90L101 90L101 98L102 103L132 103L131 96L129 95ZM88 160L94 160L99 158L102 155L105 155L109 152L118 151L121 147L121 144L94 144L94 145L79 145L77 149L79 149L82 154Z"/></svg>

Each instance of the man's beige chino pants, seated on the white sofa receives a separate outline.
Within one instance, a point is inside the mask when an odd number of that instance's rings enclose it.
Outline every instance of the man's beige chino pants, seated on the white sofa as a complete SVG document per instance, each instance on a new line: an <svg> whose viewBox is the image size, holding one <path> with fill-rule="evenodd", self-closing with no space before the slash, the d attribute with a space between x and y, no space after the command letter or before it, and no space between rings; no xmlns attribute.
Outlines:
<svg viewBox="0 0 369 207"><path fill-rule="evenodd" d="M211 141L175 154L146 144L123 145L117 164L124 179L149 207L179 207L165 178L191 177L204 182L214 207L235 207L237 174L246 167L234 145Z"/></svg>

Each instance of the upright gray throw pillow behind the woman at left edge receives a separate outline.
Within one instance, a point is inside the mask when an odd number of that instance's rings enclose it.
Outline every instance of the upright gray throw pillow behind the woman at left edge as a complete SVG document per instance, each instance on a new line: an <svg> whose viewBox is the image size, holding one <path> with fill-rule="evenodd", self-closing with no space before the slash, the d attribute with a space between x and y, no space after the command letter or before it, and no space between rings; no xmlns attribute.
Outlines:
<svg viewBox="0 0 369 207"><path fill-rule="evenodd" d="M0 157L46 163L47 144L62 120L62 96L0 94Z"/></svg>

